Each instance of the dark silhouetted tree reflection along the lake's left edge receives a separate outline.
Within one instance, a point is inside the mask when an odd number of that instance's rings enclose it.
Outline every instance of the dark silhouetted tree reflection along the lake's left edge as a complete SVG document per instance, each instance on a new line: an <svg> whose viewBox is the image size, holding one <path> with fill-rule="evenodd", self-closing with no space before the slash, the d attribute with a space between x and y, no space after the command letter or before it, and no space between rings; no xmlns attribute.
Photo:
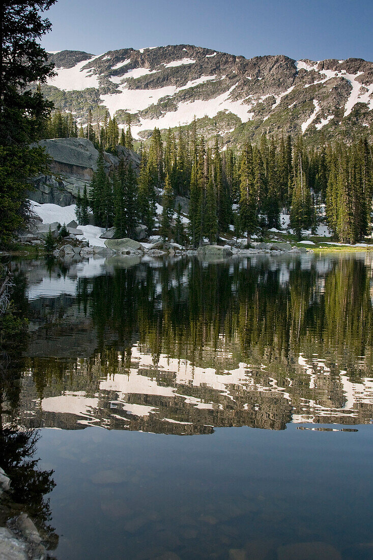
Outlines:
<svg viewBox="0 0 373 560"><path fill-rule="evenodd" d="M0 465L11 479L6 507L1 512L3 521L19 513L21 505L40 531L49 549L54 549L58 536L49 524L52 518L49 500L45 494L55 486L52 470L38 468L35 459L39 433L22 430L14 421L20 399L21 376L25 367L22 358L27 346L27 323L20 309L25 305L25 283L15 277L12 295L20 307L12 304L0 314ZM21 280L21 281L20 281ZM3 420L7 418L7 422Z"/></svg>

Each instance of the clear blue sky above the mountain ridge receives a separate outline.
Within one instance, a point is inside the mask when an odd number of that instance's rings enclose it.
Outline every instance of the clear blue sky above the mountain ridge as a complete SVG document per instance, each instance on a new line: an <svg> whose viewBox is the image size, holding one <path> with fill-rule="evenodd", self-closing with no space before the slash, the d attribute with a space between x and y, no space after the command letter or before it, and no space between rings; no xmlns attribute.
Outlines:
<svg viewBox="0 0 373 560"><path fill-rule="evenodd" d="M46 50L194 44L242 54L373 60L372 0L59 0Z"/></svg>

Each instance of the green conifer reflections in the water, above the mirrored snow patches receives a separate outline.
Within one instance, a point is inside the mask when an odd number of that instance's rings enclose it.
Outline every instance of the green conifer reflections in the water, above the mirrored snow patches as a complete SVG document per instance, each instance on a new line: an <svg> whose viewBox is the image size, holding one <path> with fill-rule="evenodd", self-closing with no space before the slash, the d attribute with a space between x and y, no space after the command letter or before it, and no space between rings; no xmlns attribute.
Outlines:
<svg viewBox="0 0 373 560"><path fill-rule="evenodd" d="M330 357L330 365L338 355L340 366L353 374L357 356L365 356L367 366L372 362L370 274L353 257L333 260L323 274L317 263L305 269L293 259L287 283L264 261L248 260L245 268L239 261L206 268L197 260L140 265L80 280L77 297L94 321L100 351L105 333L115 334L117 347L127 350L139 338L155 365L161 352L197 364L204 348L232 344L244 362L265 358L288 367L313 349Z"/></svg>

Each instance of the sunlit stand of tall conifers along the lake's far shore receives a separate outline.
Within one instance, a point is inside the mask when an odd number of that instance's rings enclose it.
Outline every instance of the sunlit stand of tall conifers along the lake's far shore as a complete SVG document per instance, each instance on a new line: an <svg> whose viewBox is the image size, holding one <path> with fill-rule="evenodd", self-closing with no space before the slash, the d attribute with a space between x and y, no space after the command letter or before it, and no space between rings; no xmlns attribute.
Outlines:
<svg viewBox="0 0 373 560"><path fill-rule="evenodd" d="M111 152L118 144L133 148L130 117L121 132L115 117L108 114L95 127L91 122L88 115L88 126L78 129L71 114L55 111L49 120L49 137L85 136L97 148ZM133 234L137 223L153 230L156 189L164 193L161 231L165 239L175 236L175 197L190 199L188 236L193 246L203 238L216 242L230 225L235 235L246 235L250 242L259 229L279 228L282 211L290 213L290 226L299 239L302 230L315 234L321 219L327 220L334 239L343 242L355 243L371 232L373 154L366 138L349 146L334 143L316 150L307 148L302 137L263 136L259 144L246 142L235 153L222 149L217 139L215 146L208 146L194 120L176 133L169 129L164 138L157 128L153 131L150 141L141 145L138 178L122 166L108 179L103 159L101 164L82 219L87 219L90 207L97 225L114 225L119 235ZM180 209L177 219L177 235L184 238Z"/></svg>

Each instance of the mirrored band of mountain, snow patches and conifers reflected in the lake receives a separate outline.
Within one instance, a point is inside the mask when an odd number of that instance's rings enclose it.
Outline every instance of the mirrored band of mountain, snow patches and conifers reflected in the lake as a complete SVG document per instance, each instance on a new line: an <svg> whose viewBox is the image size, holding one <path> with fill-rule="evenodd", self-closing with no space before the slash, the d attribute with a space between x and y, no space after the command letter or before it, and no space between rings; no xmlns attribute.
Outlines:
<svg viewBox="0 0 373 560"><path fill-rule="evenodd" d="M368 256L103 264L48 279L26 268L24 422L176 434L371 422Z"/></svg>

